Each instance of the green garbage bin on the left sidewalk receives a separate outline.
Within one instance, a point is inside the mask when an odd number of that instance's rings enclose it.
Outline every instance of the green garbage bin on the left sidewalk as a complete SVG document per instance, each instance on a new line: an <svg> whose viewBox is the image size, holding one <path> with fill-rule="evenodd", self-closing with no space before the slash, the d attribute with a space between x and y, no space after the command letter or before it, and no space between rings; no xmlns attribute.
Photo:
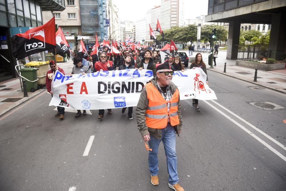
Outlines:
<svg viewBox="0 0 286 191"><path fill-rule="evenodd" d="M38 88L37 83L37 70L39 68L22 68L20 69L21 76L25 77L26 79L26 87L27 91L34 92Z"/></svg>

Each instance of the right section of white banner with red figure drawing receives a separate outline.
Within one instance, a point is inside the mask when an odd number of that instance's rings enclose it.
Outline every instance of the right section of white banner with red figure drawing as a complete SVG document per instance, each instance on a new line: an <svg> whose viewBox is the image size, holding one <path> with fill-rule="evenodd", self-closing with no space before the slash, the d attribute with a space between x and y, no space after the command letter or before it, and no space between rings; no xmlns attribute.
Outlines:
<svg viewBox="0 0 286 191"><path fill-rule="evenodd" d="M206 84L206 73L200 68L175 71L172 82L178 86L180 100L217 100L215 92Z"/></svg>

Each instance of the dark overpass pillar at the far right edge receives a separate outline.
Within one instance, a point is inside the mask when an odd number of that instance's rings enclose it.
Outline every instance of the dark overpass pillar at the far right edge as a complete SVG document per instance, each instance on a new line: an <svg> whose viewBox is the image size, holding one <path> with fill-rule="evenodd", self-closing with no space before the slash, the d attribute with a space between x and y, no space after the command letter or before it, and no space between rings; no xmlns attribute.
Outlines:
<svg viewBox="0 0 286 191"><path fill-rule="evenodd" d="M285 53L286 52L286 13L272 14L271 32L268 50L271 53Z"/></svg>

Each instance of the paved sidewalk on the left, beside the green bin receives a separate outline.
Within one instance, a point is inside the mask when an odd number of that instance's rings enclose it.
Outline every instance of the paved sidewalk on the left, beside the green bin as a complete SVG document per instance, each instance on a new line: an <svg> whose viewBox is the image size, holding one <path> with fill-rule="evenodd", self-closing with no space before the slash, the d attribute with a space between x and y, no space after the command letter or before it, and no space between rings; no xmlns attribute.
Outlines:
<svg viewBox="0 0 286 191"><path fill-rule="evenodd" d="M63 68L65 73L72 71L72 61L57 63L57 65ZM47 91L45 87L35 92L28 92L28 97L24 97L19 77L0 82L0 117L43 91Z"/></svg>

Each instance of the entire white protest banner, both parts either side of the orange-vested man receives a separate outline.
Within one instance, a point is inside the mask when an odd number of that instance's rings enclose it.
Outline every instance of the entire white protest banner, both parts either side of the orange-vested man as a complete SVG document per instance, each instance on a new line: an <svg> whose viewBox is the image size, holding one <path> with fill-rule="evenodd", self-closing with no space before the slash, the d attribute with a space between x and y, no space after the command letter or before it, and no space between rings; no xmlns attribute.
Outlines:
<svg viewBox="0 0 286 191"><path fill-rule="evenodd" d="M49 106L75 110L112 109L137 106L144 85L153 78L151 70L98 71L86 75L65 76L56 71L52 81L53 98ZM180 99L217 99L206 84L200 68L175 71L172 82L178 86Z"/></svg>

